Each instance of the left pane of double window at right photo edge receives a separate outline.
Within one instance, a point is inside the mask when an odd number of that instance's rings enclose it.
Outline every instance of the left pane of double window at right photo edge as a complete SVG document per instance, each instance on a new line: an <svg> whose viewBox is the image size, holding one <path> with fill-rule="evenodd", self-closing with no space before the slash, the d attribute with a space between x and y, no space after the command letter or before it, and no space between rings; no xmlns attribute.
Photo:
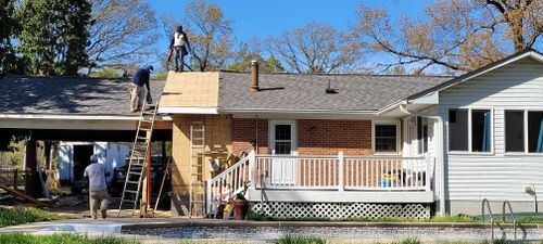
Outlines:
<svg viewBox="0 0 543 244"><path fill-rule="evenodd" d="M505 111L505 152L525 152L523 111Z"/></svg>

